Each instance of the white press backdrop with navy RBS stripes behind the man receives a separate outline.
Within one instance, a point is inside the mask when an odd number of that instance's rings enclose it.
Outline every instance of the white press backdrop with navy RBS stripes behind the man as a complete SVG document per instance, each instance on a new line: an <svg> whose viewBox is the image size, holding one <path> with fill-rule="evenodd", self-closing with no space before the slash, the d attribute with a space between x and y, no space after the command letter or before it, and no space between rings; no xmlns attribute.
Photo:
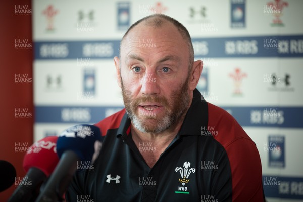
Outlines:
<svg viewBox="0 0 303 202"><path fill-rule="evenodd" d="M303 201L302 8L298 0L33 0L35 140L122 109L120 40L135 21L163 13L189 30L204 61L197 88L255 141L267 200Z"/></svg>

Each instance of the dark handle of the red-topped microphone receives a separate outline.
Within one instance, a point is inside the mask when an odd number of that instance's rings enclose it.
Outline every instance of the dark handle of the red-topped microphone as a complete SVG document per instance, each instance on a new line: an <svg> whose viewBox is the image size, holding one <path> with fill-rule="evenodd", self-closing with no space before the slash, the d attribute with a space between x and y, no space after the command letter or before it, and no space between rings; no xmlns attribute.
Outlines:
<svg viewBox="0 0 303 202"><path fill-rule="evenodd" d="M15 189L14 193L8 200L8 202L28 202L33 196L37 196L39 193L39 186L46 179L46 175L38 168L31 167L23 180L19 183L19 186Z"/></svg>

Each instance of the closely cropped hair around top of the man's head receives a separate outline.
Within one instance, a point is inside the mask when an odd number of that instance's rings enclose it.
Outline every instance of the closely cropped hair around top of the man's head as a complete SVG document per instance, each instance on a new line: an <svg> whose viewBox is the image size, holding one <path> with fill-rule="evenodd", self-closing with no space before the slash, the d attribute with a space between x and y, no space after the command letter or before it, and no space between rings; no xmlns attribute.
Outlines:
<svg viewBox="0 0 303 202"><path fill-rule="evenodd" d="M120 44L120 54L121 54L121 48L122 48L122 44L125 40L125 38L127 38L129 32L131 32L131 30L136 27L137 25L144 25L147 27L152 27L154 29L157 28L161 28L167 24L172 24L174 27L177 28L177 30L179 31L179 33L181 34L182 38L184 39L184 41L186 42L186 44L188 45L188 50L189 50L189 67L191 68L192 63L193 63L193 58L194 58L194 52L193 52L193 47L192 47L192 43L191 43L191 38L190 35L187 31L187 29L177 20L175 20L174 18L171 18L167 15L163 15L163 14L154 14L154 15L150 15L147 16L145 18L142 18L140 20L138 20L137 22L135 22L134 24L132 24L129 29L126 31L126 33L124 34L122 40L121 40L121 44Z"/></svg>

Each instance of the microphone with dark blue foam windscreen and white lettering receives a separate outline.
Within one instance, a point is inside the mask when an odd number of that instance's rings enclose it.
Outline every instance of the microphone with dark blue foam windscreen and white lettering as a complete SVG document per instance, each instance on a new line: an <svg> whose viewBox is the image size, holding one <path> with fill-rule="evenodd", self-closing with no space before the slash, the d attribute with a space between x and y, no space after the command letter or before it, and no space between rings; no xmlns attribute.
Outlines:
<svg viewBox="0 0 303 202"><path fill-rule="evenodd" d="M100 147L101 132L94 125L76 125L61 133L57 141L60 161L36 202L62 201L79 161L93 164Z"/></svg>

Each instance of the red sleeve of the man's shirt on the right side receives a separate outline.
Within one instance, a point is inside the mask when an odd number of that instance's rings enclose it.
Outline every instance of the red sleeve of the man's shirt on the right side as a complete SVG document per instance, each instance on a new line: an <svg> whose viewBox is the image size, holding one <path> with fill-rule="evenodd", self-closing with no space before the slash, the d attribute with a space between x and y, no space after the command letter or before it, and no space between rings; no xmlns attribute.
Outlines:
<svg viewBox="0 0 303 202"><path fill-rule="evenodd" d="M262 166L256 144L225 110L208 103L208 126L226 150L232 175L232 201L264 201Z"/></svg>

